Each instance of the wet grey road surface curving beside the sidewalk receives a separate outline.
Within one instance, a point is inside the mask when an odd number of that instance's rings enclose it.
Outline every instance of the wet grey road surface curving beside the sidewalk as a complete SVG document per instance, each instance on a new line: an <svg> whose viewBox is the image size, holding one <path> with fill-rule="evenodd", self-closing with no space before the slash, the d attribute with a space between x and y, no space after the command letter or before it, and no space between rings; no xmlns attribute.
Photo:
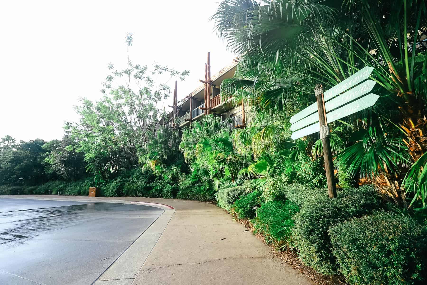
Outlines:
<svg viewBox="0 0 427 285"><path fill-rule="evenodd" d="M1 285L93 283L164 211L0 199Z"/></svg>

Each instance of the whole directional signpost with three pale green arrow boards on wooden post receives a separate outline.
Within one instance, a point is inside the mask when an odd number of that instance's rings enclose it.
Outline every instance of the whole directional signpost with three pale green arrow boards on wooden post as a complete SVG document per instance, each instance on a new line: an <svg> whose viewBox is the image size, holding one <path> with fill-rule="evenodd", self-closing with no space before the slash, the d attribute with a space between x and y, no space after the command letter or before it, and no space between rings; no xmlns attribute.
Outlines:
<svg viewBox="0 0 427 285"><path fill-rule="evenodd" d="M317 102L311 104L290 118L290 123L292 123L290 128L292 131L292 139L320 132L323 156L325 159L326 178L328 180L329 197L336 197L336 189L333 179L332 153L330 150L328 122L330 123L339 120L348 115L374 106L375 102L377 102L379 98L378 95L370 93L363 96L366 93L369 93L376 83L373 80L366 80L369 78L373 70L374 68L365 67L325 92L323 91L322 85L316 85L314 91L316 93ZM357 86L353 87L354 85ZM349 88L351 89L348 90Z"/></svg>

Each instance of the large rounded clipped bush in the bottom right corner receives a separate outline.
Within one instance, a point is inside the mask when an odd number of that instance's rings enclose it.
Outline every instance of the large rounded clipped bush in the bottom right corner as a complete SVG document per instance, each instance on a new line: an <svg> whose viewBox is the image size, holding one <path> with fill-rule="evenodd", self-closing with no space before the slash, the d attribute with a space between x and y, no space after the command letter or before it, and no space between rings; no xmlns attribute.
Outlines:
<svg viewBox="0 0 427 285"><path fill-rule="evenodd" d="M426 284L426 229L408 215L373 212L329 233L339 271L351 284Z"/></svg>

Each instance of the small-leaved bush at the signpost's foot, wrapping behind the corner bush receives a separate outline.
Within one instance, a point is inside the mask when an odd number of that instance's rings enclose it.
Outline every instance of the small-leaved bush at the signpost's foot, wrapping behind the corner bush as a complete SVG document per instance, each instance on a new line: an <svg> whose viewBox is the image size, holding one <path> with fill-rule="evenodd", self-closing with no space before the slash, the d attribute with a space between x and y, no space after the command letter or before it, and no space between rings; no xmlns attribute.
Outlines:
<svg viewBox="0 0 427 285"><path fill-rule="evenodd" d="M304 203L294 216L293 228L295 245L303 263L322 274L336 273L338 267L332 254L329 227L368 214L377 205L378 197L371 185L340 191L335 199L320 196Z"/></svg>

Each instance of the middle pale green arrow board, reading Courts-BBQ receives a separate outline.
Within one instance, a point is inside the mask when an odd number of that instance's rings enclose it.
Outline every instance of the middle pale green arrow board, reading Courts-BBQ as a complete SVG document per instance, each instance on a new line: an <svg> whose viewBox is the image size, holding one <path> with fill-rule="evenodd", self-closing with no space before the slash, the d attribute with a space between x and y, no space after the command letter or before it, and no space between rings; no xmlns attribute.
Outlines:
<svg viewBox="0 0 427 285"><path fill-rule="evenodd" d="M332 100L325 103L325 109L326 112L329 112L333 109L338 108L339 106L344 105L345 103L348 103L372 90L374 85L376 84L373 80L366 80L362 84L357 85L356 87L352 88L351 90L339 95L336 98L333 98ZM316 110L317 110L317 103L316 103ZM296 123L292 123L292 126L290 127L291 131L295 131L297 129L301 129L304 126L310 125L311 123L314 123L319 120L319 112L316 112L302 120L299 120Z"/></svg>

